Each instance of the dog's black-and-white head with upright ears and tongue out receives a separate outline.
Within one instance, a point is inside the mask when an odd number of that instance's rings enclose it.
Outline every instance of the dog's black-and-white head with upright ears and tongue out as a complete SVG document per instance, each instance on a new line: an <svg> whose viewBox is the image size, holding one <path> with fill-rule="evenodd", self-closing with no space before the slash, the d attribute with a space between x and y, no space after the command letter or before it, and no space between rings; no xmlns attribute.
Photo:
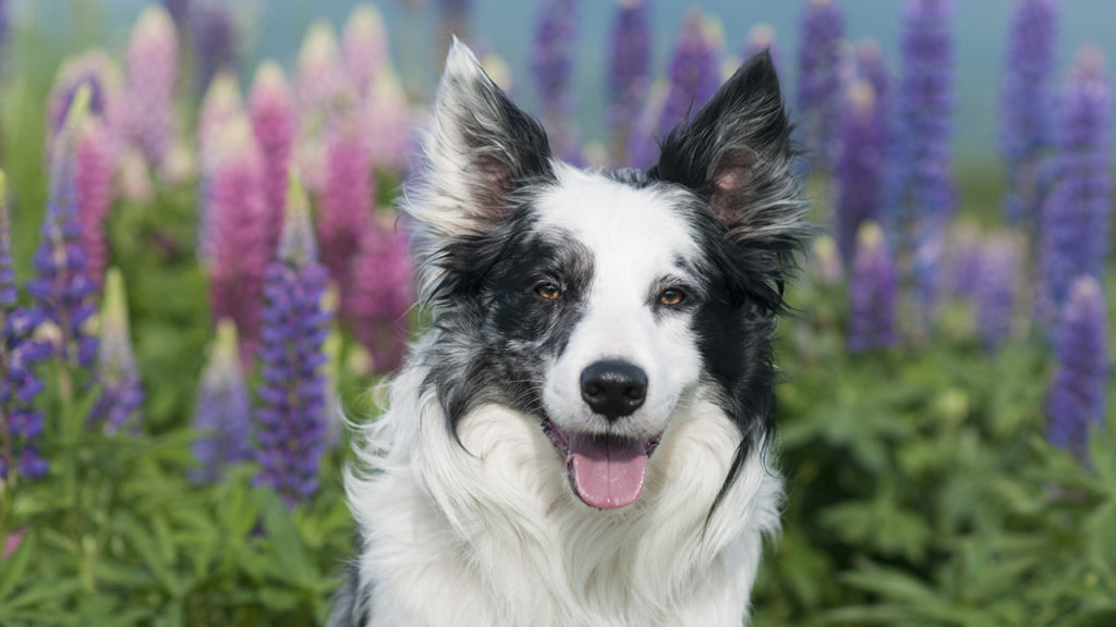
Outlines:
<svg viewBox="0 0 1116 627"><path fill-rule="evenodd" d="M789 133L764 52L650 171L580 171L455 42L405 202L451 431L478 404L516 407L585 503L619 508L702 390L742 436L728 486L771 428L773 318L804 235Z"/></svg>

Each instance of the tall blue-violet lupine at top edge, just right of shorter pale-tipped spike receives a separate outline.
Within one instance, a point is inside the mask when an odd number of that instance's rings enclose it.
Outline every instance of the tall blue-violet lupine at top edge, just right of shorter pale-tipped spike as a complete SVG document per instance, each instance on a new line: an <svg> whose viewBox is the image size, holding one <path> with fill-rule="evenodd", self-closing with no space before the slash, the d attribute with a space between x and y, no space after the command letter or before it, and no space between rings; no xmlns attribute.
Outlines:
<svg viewBox="0 0 1116 627"><path fill-rule="evenodd" d="M939 292L943 230L953 213L951 0L908 0L899 83L902 180L895 221L898 250L913 251L920 311L932 316Z"/></svg>

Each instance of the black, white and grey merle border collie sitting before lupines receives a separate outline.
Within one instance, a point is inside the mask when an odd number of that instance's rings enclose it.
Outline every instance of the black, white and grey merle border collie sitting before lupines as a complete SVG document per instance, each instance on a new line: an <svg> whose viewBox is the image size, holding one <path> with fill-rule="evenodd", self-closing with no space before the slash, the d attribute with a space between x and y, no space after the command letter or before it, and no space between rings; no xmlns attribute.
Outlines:
<svg viewBox="0 0 1116 627"><path fill-rule="evenodd" d="M741 625L782 494L789 134L764 52L646 172L583 171L454 42L403 202L432 321L356 441L331 625Z"/></svg>

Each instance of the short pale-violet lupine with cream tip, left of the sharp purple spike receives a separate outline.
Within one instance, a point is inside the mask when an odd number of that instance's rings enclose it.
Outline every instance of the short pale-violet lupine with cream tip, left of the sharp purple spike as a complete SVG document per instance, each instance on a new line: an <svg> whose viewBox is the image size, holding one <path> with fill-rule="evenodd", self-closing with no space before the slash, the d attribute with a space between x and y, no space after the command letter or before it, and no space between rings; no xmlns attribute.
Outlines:
<svg viewBox="0 0 1116 627"><path fill-rule="evenodd" d="M230 465L251 459L251 426L252 403L240 367L237 325L221 320L198 388L194 428L200 435L193 452L199 467L191 478L213 483Z"/></svg>

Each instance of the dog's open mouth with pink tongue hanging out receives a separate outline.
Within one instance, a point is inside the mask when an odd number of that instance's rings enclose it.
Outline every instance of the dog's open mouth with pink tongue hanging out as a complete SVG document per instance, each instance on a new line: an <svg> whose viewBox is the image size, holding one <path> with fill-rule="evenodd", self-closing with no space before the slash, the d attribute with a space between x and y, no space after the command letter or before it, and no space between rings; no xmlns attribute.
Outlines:
<svg viewBox="0 0 1116 627"><path fill-rule="evenodd" d="M587 505L613 510L639 498L647 452L638 440L571 434L566 464Z"/></svg>

